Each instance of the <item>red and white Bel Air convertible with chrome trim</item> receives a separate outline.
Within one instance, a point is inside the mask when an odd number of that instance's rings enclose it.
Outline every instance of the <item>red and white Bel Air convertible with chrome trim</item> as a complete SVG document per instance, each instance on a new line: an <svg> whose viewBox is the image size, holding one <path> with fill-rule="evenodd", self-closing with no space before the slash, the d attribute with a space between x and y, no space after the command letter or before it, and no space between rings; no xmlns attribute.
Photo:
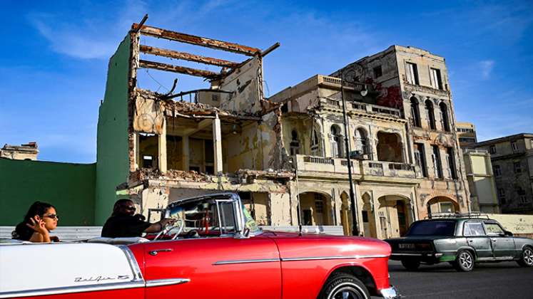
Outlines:
<svg viewBox="0 0 533 299"><path fill-rule="evenodd" d="M400 298L390 246L261 231L236 194L170 204L146 238L0 245L0 298Z"/></svg>

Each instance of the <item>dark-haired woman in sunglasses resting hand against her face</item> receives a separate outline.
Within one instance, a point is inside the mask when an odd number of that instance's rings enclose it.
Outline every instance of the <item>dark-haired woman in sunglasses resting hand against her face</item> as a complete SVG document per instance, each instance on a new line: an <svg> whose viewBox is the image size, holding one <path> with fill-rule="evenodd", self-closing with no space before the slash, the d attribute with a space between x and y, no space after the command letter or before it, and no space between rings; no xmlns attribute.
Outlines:
<svg viewBox="0 0 533 299"><path fill-rule="evenodd" d="M56 208L46 202L35 201L24 216L24 221L18 224L12 233L13 238L21 241L51 242L59 241L50 236L50 231L56 229L59 217Z"/></svg>

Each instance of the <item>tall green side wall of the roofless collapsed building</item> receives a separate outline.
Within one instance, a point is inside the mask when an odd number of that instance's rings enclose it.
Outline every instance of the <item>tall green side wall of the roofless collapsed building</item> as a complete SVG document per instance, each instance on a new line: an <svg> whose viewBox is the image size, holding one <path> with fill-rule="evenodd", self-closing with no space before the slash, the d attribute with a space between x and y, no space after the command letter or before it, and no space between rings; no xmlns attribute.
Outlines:
<svg viewBox="0 0 533 299"><path fill-rule="evenodd" d="M103 225L116 201L116 187L126 182L128 160L128 70L130 38L109 60L106 95L100 105L96 138L95 224Z"/></svg>

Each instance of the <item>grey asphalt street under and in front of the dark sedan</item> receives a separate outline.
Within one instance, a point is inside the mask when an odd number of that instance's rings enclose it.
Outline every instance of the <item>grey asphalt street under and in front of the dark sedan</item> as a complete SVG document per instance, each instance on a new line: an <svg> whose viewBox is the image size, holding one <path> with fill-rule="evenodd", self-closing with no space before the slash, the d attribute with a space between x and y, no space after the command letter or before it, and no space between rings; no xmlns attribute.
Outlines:
<svg viewBox="0 0 533 299"><path fill-rule="evenodd" d="M390 261L389 272L402 298L533 298L533 268L516 262L479 263L474 271L459 273L449 263L407 271Z"/></svg>

